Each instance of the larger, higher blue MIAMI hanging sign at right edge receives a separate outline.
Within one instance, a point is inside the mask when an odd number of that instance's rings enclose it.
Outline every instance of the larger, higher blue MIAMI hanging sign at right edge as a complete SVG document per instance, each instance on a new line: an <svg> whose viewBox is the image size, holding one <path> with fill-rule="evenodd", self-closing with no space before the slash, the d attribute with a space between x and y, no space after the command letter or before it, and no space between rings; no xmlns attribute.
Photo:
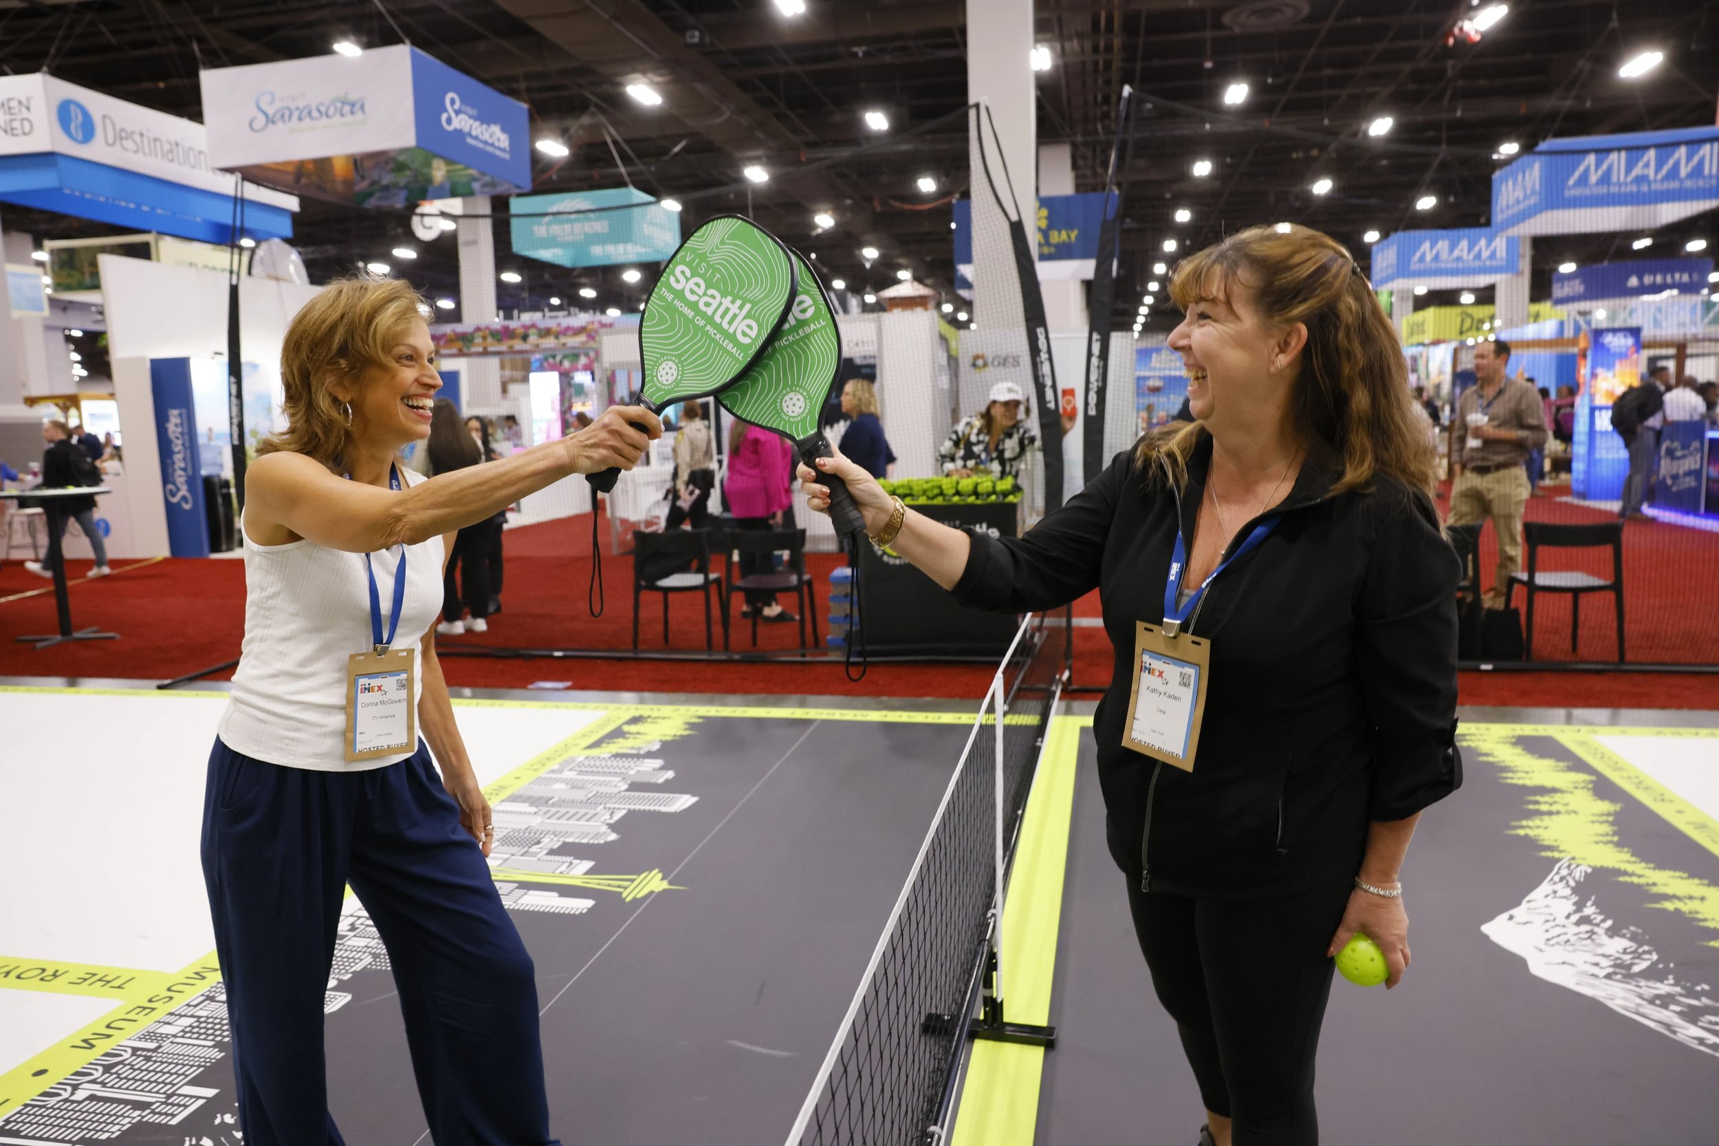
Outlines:
<svg viewBox="0 0 1719 1146"><path fill-rule="evenodd" d="M1547 139L1492 175L1508 235L1652 230L1719 206L1719 127Z"/></svg>

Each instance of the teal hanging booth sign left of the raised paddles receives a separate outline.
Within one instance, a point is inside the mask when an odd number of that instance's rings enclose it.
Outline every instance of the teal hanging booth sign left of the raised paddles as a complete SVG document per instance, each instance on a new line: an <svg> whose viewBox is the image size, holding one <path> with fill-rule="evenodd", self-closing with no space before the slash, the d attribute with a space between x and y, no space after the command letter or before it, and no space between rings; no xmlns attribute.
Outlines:
<svg viewBox="0 0 1719 1146"><path fill-rule="evenodd" d="M681 246L681 216L633 187L514 196L514 254L555 266L662 263Z"/></svg>

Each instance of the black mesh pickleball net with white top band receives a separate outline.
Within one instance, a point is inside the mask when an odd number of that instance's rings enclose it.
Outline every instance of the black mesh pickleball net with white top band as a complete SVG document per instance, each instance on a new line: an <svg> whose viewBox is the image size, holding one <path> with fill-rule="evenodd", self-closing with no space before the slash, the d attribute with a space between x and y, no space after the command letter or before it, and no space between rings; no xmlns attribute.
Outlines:
<svg viewBox="0 0 1719 1146"><path fill-rule="evenodd" d="M997 667L787 1146L920 1146L945 1137L963 1048L997 954L997 873L1007 890L1061 694L1062 646L1050 632L1042 619L1025 617Z"/></svg>

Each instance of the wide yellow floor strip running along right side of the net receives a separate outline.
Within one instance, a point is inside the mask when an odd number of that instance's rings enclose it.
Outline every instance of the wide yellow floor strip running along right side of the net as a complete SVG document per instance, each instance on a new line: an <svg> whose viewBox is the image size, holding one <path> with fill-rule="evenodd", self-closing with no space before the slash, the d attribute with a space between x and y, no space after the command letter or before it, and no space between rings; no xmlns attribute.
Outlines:
<svg viewBox="0 0 1719 1146"><path fill-rule="evenodd" d="M1026 801L1009 900L1002 907L1002 998L1011 1022L1050 1021L1080 734L1090 725L1090 716L1052 720ZM1040 1046L973 1043L954 1146L1031 1146L1043 1065Z"/></svg>

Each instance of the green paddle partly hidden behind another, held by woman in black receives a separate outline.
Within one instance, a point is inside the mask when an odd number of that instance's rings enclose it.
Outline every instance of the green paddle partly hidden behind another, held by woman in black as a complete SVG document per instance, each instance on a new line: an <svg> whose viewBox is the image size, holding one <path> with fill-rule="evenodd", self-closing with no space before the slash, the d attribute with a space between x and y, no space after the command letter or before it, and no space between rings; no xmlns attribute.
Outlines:
<svg viewBox="0 0 1719 1146"><path fill-rule="evenodd" d="M736 418L792 442L799 460L817 471L815 460L834 454L818 419L841 373L842 335L817 271L798 251L792 258L798 289L782 326L758 361L717 392L717 402ZM830 490L835 534L846 541L865 533L865 519L847 483L822 472L818 481Z"/></svg>

